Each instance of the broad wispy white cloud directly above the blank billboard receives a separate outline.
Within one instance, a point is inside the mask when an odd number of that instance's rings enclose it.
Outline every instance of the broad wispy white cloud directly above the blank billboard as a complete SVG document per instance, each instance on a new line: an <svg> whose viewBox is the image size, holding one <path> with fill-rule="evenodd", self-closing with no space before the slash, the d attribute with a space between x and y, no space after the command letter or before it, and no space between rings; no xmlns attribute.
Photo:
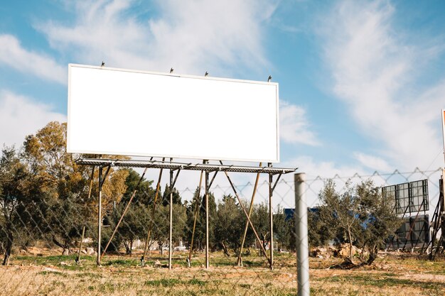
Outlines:
<svg viewBox="0 0 445 296"><path fill-rule="evenodd" d="M274 11L268 1L159 1L160 15L146 22L132 3L77 1L69 8L72 26L48 21L37 28L53 48L93 65L210 75L267 65L260 31Z"/></svg>

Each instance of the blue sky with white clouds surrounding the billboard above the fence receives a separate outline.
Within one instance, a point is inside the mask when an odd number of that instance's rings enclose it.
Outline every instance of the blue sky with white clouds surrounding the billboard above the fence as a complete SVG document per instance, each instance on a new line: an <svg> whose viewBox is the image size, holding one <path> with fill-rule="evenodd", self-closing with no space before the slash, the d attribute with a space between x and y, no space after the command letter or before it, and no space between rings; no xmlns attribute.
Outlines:
<svg viewBox="0 0 445 296"><path fill-rule="evenodd" d="M444 166L444 1L1 1L0 143L67 113L68 63L279 82L280 166ZM148 131L151 127L147 127Z"/></svg>

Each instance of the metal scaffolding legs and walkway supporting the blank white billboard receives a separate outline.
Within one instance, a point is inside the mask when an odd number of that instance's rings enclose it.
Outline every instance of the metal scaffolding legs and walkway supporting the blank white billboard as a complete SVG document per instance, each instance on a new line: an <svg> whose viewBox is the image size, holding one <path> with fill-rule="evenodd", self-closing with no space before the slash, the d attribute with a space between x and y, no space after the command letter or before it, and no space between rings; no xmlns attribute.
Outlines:
<svg viewBox="0 0 445 296"><path fill-rule="evenodd" d="M238 200L238 203L240 204L240 207L242 208L242 212L244 212L245 216L246 216L246 229L247 226L250 225L250 227L252 228L255 237L257 239L257 241L259 241L259 245L262 247L262 251L264 253L264 255L267 258L267 261L269 262L269 267L270 269L274 268L274 254L273 254L273 211L272 211L272 197L273 197L273 192L275 187L277 186L277 183L280 179L280 177L283 174L288 174L290 172L294 172L296 170L296 168L273 168L272 167L272 163L268 163L267 166L262 166L262 164L260 163L258 167L252 167L252 166L244 166L244 165L224 165L222 161L219 161L219 164L210 164L208 163L208 160L203 160L203 163L176 163L173 162L173 159L170 158L170 160L167 162L165 161L165 158L163 158L163 160L153 160L153 158L151 158L150 160L116 160L116 159L105 159L105 158L80 158L76 160L76 163L78 165L91 165L93 170L95 167L99 168L99 199L98 199L98 216L97 216L97 235L98 235L98 239L97 239L97 265L101 264L101 259L104 256L104 253L107 251L107 247L109 246L109 243L111 243L114 234L117 232L117 229L119 227L120 222L122 221L122 219L124 218L124 215L127 212L127 209L129 207L129 205L132 202L132 198L129 199L129 202L124 210L124 212L122 213L121 218L119 219L119 223L116 225L113 234L111 236L111 238L109 239L109 242L107 243L107 246L104 248L104 251L102 252L101 255L101 246L100 246L100 241L101 241L101 225L102 225L102 201L101 201L101 197L102 197L102 185L104 183L105 178L107 177L107 174L110 170L110 168L112 167L117 167L117 168L144 168L144 174L141 176L141 179L144 177L146 170L154 168L154 169L160 169L159 172L159 180L158 180L158 185L156 186L156 197L159 195L159 184L161 182L161 175L162 175L162 171L164 169L167 169L170 171L170 204L169 204L169 235L168 235L168 268L171 269L172 268L172 253L173 253L173 241L172 241L172 229L173 229L173 222L172 222L172 216L173 216L173 209L172 209L172 199L173 199L173 187L176 184L176 180L178 180L178 175L179 172L181 172L181 170L198 170L201 172L201 177L200 177L200 185L202 182L202 175L205 176L204 180L205 180L205 268L209 268L210 266L210 262L209 262L209 233L208 233L208 224L209 224L209 212L208 212L208 194L210 192L210 187L213 184L213 181L215 180L216 175L218 174L218 172L224 172L225 176L227 177L228 182L230 183L230 186L232 187L232 190L235 194L235 197ZM106 169L106 172L104 174L102 174L102 170ZM176 172L176 175L175 175ZM209 181L209 177L210 177L210 173L213 172L213 176L211 178L211 180ZM249 212L246 211L245 207L243 206L240 196L235 188L235 185L233 185L232 180L230 179L229 176L229 172L247 172L247 173L257 173L257 179L259 177L259 174L267 174L269 176L269 231L270 231L270 248L269 248L269 256L267 256L266 250L264 250L264 246L261 243L261 240L259 239L259 236L257 234L257 231L254 228L254 225L252 224L252 221L250 220L250 213L251 213L251 209L252 209L252 203L253 203L253 199L255 196L255 192L257 190L257 186L254 187L254 192L252 193L252 202L251 202L251 206L249 209ZM173 177L174 175L174 177ZM274 182L274 176L276 176L276 180ZM139 180L140 183L141 180ZM138 185L139 185L138 183ZM257 182L256 182L257 183ZM136 186L136 190L137 190L137 186ZM134 190L132 197L134 197L134 194L136 194L136 190ZM154 214L154 211L152 212L152 214ZM195 213L195 216L197 215L197 213ZM152 217L153 218L153 217ZM196 219L196 217L195 217ZM153 219L151 219L151 221L153 221ZM149 232L147 234L147 238L146 238L146 243L145 243L145 248L144 248L144 255L141 258L141 262L144 265L144 261L145 261L145 256L146 256L146 248L147 245L149 243L149 239L150 239L150 232L151 229L153 227L153 224L151 223L149 225ZM193 232L194 232L194 227L193 227ZM193 237L193 236L192 236ZM242 238L242 241L244 241L244 237ZM191 247L192 248L192 247ZM191 265L191 251L189 253L189 256L187 258L188 261L188 265ZM241 259L238 258L237 263L240 264Z"/></svg>

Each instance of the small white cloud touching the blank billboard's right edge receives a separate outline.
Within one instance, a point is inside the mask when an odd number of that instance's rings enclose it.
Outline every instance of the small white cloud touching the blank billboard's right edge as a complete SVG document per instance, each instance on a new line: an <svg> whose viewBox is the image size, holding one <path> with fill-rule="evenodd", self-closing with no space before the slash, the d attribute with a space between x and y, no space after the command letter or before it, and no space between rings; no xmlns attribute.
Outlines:
<svg viewBox="0 0 445 296"><path fill-rule="evenodd" d="M281 100L279 121L279 134L283 141L310 146L318 146L320 144L313 132L309 130L311 126L306 119L306 110L301 106Z"/></svg>

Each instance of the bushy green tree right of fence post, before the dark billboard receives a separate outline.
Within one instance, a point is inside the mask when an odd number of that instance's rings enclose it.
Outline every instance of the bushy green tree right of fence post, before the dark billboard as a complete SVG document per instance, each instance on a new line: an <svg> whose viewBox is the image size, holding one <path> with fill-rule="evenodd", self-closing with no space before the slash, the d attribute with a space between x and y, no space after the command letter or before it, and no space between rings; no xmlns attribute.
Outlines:
<svg viewBox="0 0 445 296"><path fill-rule="evenodd" d="M328 180L320 192L320 219L331 227L339 241L343 239L339 235L344 234L350 243L351 262L355 244L370 251L367 263L371 264L385 239L394 234L402 221L392 213L393 204L382 197L380 187L372 181L356 186L347 182L343 192L337 192L335 187L333 180Z"/></svg>

